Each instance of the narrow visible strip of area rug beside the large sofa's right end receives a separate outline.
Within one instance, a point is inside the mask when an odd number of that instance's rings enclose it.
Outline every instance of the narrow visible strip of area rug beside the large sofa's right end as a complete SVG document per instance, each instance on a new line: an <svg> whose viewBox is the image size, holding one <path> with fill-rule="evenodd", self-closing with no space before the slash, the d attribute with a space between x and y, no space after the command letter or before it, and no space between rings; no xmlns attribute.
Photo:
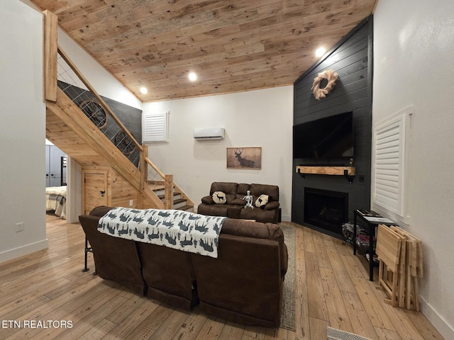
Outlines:
<svg viewBox="0 0 454 340"><path fill-rule="evenodd" d="M284 232L284 243L287 245L289 252L289 263L287 273L284 279L284 288L282 291L282 316L280 327L295 330L295 227L292 225L280 224Z"/></svg>

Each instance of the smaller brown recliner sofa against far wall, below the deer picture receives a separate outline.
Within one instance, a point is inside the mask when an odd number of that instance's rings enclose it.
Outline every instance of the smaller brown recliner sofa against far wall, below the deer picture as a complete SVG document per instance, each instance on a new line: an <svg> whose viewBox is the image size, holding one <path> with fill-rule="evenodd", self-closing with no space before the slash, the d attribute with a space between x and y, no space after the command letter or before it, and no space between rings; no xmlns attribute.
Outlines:
<svg viewBox="0 0 454 340"><path fill-rule="evenodd" d="M243 198L248 191L253 196L254 208L245 208L246 202ZM216 193L225 194L226 199L217 200L219 203L216 203ZM267 196L268 202L258 206L256 201L262 195ZM209 195L201 198L197 212L202 215L277 223L279 222L279 186L258 183L213 182Z"/></svg>

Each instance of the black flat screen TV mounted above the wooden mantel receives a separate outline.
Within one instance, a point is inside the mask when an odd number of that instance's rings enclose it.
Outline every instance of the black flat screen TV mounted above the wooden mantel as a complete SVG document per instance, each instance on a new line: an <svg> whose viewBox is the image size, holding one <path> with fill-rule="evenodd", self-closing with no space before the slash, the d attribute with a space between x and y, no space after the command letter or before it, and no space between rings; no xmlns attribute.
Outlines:
<svg viewBox="0 0 454 340"><path fill-rule="evenodd" d="M293 158L353 157L353 113L341 113L293 126Z"/></svg>

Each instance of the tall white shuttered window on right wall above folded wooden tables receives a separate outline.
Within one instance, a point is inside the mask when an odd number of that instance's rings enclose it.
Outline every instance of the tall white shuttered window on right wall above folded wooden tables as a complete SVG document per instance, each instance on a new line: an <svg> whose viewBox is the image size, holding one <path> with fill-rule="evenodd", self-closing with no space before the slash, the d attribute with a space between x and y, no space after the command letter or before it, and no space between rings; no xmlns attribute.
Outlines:
<svg viewBox="0 0 454 340"><path fill-rule="evenodd" d="M402 217L406 214L405 154L411 112L407 109L374 129L374 201Z"/></svg>

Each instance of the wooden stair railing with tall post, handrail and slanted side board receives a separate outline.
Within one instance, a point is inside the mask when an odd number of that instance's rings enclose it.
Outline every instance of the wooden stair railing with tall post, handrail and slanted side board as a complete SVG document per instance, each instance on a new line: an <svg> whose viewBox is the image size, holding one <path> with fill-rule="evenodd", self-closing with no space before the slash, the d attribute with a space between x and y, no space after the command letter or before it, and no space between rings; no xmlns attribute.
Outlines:
<svg viewBox="0 0 454 340"><path fill-rule="evenodd" d="M58 118L60 118L68 127L70 127L84 142L91 147L96 154L106 159L113 169L115 169L120 176L143 194L144 198L155 205L155 208L172 209L175 207L175 202L179 204L178 208L189 210L194 207L194 203L186 194L175 184L172 175L165 175L157 169L155 164L146 157L148 148L140 145L131 132L123 125L111 108L107 105L101 96L94 90L93 86L83 76L76 65L70 60L65 52L57 45L57 16L50 11L43 12L45 16L45 101L46 109ZM99 105L109 113L116 124L126 133L129 139L134 143L135 147L140 152L139 168L129 161L125 155L111 143L108 137L104 135L95 125L87 126L87 116L81 109L72 102L72 100L57 86L57 55L60 54L63 60L72 69L74 74L79 77L82 83L87 86L87 89L99 102ZM91 121L90 121L91 123ZM63 150L65 151L65 150ZM155 171L160 177L160 182L163 183L164 194L158 195L159 191L153 190L148 179L148 166ZM152 182L153 183L153 182ZM175 200L177 197L177 200ZM184 202L184 205L180 206Z"/></svg>

